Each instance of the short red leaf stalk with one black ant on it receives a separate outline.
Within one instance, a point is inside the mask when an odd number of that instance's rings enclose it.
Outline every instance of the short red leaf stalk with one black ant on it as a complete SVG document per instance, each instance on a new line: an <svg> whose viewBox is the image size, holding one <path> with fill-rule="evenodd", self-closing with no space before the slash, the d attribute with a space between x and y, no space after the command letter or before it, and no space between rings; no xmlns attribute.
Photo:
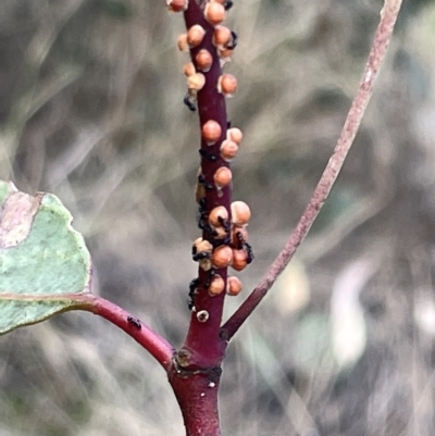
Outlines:
<svg viewBox="0 0 435 436"><path fill-rule="evenodd" d="M112 324L122 328L139 342L163 368L169 371L174 356L174 348L158 333L145 325L140 320L120 308L119 306L92 294L73 296L82 309L102 316Z"/></svg>

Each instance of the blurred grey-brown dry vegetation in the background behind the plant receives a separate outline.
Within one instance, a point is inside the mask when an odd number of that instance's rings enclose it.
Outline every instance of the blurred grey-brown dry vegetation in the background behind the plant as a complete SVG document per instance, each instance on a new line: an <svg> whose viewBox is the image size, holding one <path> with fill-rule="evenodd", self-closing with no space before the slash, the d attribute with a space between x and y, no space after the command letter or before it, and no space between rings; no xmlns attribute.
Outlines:
<svg viewBox="0 0 435 436"><path fill-rule="evenodd" d="M382 3L235 0L234 198L251 205L256 250L245 296L327 162ZM86 236L96 291L176 346L199 235L182 30L162 1L0 1L1 178L58 195ZM435 434L434 40L435 1L405 0L324 211L228 349L224 434ZM184 434L163 371L86 313L2 337L0 386L1 436Z"/></svg>

